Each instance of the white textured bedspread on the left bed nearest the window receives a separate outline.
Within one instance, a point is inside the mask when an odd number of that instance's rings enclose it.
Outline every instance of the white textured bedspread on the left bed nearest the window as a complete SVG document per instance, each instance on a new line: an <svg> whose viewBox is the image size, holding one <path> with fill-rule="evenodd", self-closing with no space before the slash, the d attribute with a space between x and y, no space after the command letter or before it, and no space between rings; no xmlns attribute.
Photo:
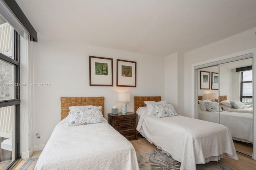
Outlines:
<svg viewBox="0 0 256 170"><path fill-rule="evenodd" d="M38 158L35 170L138 170L132 144L104 119L68 127L59 123Z"/></svg>

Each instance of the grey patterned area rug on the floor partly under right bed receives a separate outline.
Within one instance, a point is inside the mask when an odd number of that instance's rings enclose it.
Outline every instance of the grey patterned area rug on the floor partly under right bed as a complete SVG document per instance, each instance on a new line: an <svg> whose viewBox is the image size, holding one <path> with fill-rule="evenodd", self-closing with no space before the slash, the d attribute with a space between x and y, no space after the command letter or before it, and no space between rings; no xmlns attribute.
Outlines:
<svg viewBox="0 0 256 170"><path fill-rule="evenodd" d="M140 170L179 170L180 162L156 149L137 155ZM209 162L196 165L197 170L234 170L220 162Z"/></svg>

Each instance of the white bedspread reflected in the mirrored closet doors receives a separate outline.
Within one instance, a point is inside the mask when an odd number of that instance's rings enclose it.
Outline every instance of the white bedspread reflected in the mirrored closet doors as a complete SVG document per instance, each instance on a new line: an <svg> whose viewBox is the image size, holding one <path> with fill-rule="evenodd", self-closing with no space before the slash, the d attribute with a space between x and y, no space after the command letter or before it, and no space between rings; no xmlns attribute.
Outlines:
<svg viewBox="0 0 256 170"><path fill-rule="evenodd" d="M198 109L199 119L218 123L218 112L202 111ZM229 128L235 140L252 143L253 119L251 113L220 112L220 124Z"/></svg>

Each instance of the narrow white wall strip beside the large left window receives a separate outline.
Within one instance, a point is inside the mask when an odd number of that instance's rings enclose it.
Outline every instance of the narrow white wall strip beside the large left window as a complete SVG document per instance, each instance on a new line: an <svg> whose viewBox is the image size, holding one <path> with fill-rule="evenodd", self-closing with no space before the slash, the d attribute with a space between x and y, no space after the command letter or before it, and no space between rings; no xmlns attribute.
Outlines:
<svg viewBox="0 0 256 170"><path fill-rule="evenodd" d="M30 43L28 36L20 36L20 83L28 84L30 71ZM34 152L33 148L33 128L34 123L31 122L34 116L33 110L33 92L29 91L32 87L20 86L20 152L22 159L29 158ZM31 109L30 109L31 108Z"/></svg>

